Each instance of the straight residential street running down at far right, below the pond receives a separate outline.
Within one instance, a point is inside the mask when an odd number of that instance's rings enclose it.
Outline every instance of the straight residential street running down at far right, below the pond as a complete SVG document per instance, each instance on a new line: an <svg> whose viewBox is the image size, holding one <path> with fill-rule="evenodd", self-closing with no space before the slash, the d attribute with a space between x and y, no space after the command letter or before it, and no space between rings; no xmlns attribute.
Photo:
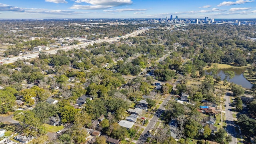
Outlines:
<svg viewBox="0 0 256 144"><path fill-rule="evenodd" d="M236 130L235 130L235 125L234 125L234 121L233 121L233 116L232 116L232 109L231 109L231 102L230 102L230 93L227 92L225 94L225 116L226 116L226 123L227 123L227 128L226 131L227 133L232 136L232 142L230 142L229 144L236 144Z"/></svg>

